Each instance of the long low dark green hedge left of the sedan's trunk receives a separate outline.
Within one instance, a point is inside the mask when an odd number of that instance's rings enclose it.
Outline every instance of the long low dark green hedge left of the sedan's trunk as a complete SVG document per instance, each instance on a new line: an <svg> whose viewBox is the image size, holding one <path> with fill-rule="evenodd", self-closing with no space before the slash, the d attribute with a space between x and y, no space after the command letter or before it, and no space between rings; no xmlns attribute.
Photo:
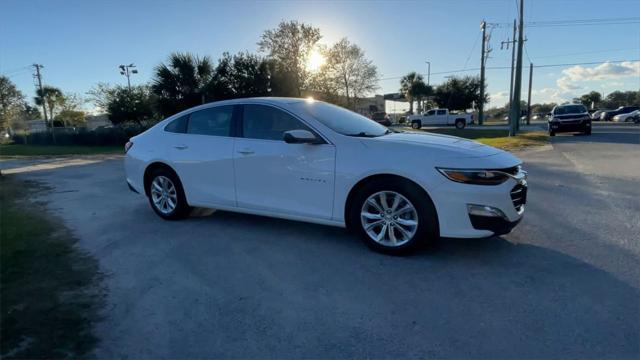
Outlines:
<svg viewBox="0 0 640 360"><path fill-rule="evenodd" d="M55 143L53 142L50 131L28 135L15 135L13 142L16 144L32 145L124 145L130 138L148 128L149 126L144 125L122 125L109 128L97 128L91 131L88 131L86 128L54 128Z"/></svg>

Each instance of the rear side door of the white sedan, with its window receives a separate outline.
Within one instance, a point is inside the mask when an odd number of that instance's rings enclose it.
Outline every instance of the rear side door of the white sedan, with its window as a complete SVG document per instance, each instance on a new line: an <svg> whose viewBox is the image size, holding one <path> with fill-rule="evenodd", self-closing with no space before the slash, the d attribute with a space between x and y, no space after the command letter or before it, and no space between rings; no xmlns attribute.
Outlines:
<svg viewBox="0 0 640 360"><path fill-rule="evenodd" d="M171 162L191 205L236 205L233 113L231 105L194 111L183 117L182 133L170 140Z"/></svg>

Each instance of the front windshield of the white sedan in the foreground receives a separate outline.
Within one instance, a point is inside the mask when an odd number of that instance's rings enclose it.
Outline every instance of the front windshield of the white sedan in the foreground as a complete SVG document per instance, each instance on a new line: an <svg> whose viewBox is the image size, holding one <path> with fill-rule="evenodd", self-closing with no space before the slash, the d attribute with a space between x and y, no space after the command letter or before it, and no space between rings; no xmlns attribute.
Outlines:
<svg viewBox="0 0 640 360"><path fill-rule="evenodd" d="M343 135L376 137L389 133L389 129L377 122L339 106L320 101L301 101L292 107Z"/></svg>

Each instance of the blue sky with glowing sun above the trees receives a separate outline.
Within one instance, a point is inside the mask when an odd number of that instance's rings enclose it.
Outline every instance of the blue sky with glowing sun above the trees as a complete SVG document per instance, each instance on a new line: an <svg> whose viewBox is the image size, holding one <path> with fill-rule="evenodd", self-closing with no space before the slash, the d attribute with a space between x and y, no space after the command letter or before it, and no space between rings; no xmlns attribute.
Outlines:
<svg viewBox="0 0 640 360"><path fill-rule="evenodd" d="M525 23L640 17L637 0L524 0ZM29 65L44 65L44 83L85 96L96 83L126 84L118 65L134 63L133 84L148 82L171 52L189 51L215 61L227 51L257 52L257 41L280 21L318 27L320 43L343 37L358 44L380 73L376 93L397 92L399 77L427 73L431 85L451 75L477 75L480 22L490 26L487 67L510 66L516 0L440 1L36 1L0 0L0 74L29 98ZM504 25L506 24L506 25ZM529 62L592 65L534 68L532 102L562 102L595 90L640 89L640 23L525 26L522 98ZM607 61L630 60L623 63ZM636 60L636 61L631 61ZM461 71L471 70L471 71ZM490 107L508 100L510 70L487 70ZM403 110L396 104L395 110ZM387 106L393 112L394 106Z"/></svg>

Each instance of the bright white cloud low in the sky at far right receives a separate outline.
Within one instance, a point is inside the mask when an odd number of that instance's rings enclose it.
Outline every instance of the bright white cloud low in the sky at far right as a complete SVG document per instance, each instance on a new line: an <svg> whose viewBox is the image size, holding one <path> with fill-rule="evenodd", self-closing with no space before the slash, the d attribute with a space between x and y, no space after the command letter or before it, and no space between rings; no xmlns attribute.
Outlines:
<svg viewBox="0 0 640 360"><path fill-rule="evenodd" d="M582 88L576 84L579 82L638 77L640 76L640 61L604 62L594 67L576 65L562 70L562 74L563 76L556 80L558 87L564 91L577 90Z"/></svg>

